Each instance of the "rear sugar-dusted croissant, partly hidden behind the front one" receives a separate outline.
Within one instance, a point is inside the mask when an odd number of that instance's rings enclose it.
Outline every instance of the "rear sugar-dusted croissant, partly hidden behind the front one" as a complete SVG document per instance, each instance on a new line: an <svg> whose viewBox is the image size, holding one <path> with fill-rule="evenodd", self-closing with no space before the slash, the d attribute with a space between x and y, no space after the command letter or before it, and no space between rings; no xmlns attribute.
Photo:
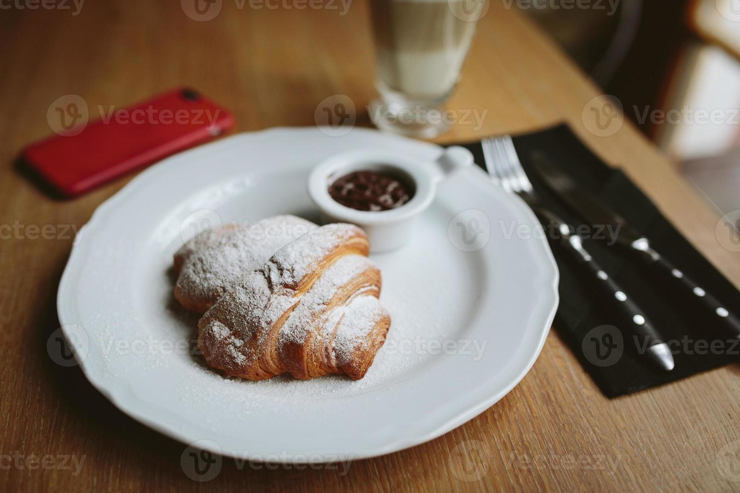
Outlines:
<svg viewBox="0 0 740 493"><path fill-rule="evenodd" d="M317 225L284 215L201 231L175 253L175 299L187 310L205 312L245 273L311 228Z"/></svg>

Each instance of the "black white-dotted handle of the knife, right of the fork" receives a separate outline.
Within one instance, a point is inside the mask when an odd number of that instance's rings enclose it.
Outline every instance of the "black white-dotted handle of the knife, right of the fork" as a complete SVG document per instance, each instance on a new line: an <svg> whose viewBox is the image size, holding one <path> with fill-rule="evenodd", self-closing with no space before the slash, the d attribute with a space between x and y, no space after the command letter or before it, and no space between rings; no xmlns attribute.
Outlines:
<svg viewBox="0 0 740 493"><path fill-rule="evenodd" d="M670 260L653 250L653 248L650 248L647 239L637 240L632 244L632 248L637 251L641 259L653 266L656 271L672 279L681 290L693 299L696 299L698 305L703 306L720 324L731 330L734 337L740 339L740 319L731 313L730 310L727 310L727 307L712 296L712 293L704 290L693 279L684 274L683 271L676 268Z"/></svg>

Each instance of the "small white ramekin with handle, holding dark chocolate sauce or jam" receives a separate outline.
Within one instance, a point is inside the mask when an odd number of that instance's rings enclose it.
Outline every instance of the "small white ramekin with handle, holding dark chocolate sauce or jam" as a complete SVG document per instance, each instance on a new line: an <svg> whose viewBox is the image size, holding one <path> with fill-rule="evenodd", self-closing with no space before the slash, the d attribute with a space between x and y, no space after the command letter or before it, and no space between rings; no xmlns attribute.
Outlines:
<svg viewBox="0 0 740 493"><path fill-rule="evenodd" d="M309 195L328 222L351 222L363 228L374 253L395 250L408 242L419 215L434 200L437 183L448 174L473 164L473 154L460 146L448 147L436 161L417 160L375 149L360 149L330 157L309 176ZM408 203L389 211L357 211L337 203L329 186L352 171L392 171L414 186Z"/></svg>

